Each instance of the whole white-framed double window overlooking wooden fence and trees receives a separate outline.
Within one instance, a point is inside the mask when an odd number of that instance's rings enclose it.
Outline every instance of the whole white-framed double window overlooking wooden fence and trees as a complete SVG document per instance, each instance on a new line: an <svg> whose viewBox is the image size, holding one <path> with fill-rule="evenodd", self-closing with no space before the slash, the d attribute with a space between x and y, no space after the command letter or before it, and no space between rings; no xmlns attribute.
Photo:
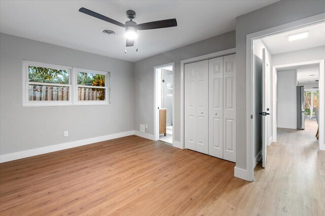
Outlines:
<svg viewBox="0 0 325 216"><path fill-rule="evenodd" d="M109 104L108 72L23 61L23 106Z"/></svg>

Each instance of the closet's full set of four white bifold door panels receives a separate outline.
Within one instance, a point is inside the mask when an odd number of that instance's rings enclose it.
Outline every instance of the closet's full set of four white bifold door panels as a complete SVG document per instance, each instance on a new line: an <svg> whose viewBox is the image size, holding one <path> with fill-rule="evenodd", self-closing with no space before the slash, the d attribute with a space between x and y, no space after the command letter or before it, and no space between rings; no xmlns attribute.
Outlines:
<svg viewBox="0 0 325 216"><path fill-rule="evenodd" d="M236 161L236 55L185 64L185 148Z"/></svg>

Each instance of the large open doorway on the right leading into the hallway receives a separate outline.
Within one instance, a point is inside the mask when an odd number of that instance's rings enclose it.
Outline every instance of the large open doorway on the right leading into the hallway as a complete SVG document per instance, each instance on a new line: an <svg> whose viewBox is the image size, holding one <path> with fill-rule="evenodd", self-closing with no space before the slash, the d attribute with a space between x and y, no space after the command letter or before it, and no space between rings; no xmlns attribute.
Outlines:
<svg viewBox="0 0 325 216"><path fill-rule="evenodd" d="M269 146L292 159L325 150L324 29L320 22L253 39L253 167L267 166Z"/></svg>

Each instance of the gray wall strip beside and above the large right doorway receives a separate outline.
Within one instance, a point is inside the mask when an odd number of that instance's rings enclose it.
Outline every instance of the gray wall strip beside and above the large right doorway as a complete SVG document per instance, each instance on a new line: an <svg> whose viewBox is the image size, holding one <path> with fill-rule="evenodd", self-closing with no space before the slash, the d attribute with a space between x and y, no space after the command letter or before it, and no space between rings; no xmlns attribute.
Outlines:
<svg viewBox="0 0 325 216"><path fill-rule="evenodd" d="M246 35L325 12L325 1L280 1L236 18L236 166L246 167ZM244 114L243 114L244 113Z"/></svg>

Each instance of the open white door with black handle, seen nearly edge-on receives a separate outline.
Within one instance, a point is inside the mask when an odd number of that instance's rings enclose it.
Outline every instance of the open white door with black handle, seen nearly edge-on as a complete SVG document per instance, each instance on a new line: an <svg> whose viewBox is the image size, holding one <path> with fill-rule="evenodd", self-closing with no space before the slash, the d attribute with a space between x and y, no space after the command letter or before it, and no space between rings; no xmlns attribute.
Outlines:
<svg viewBox="0 0 325 216"><path fill-rule="evenodd" d="M268 75L267 75L267 62L265 56L265 49L263 49L263 72L262 72L262 166L266 167L266 157L267 157L267 144L268 144L268 121L269 111L268 109L268 94L267 94L267 84L268 84Z"/></svg>

